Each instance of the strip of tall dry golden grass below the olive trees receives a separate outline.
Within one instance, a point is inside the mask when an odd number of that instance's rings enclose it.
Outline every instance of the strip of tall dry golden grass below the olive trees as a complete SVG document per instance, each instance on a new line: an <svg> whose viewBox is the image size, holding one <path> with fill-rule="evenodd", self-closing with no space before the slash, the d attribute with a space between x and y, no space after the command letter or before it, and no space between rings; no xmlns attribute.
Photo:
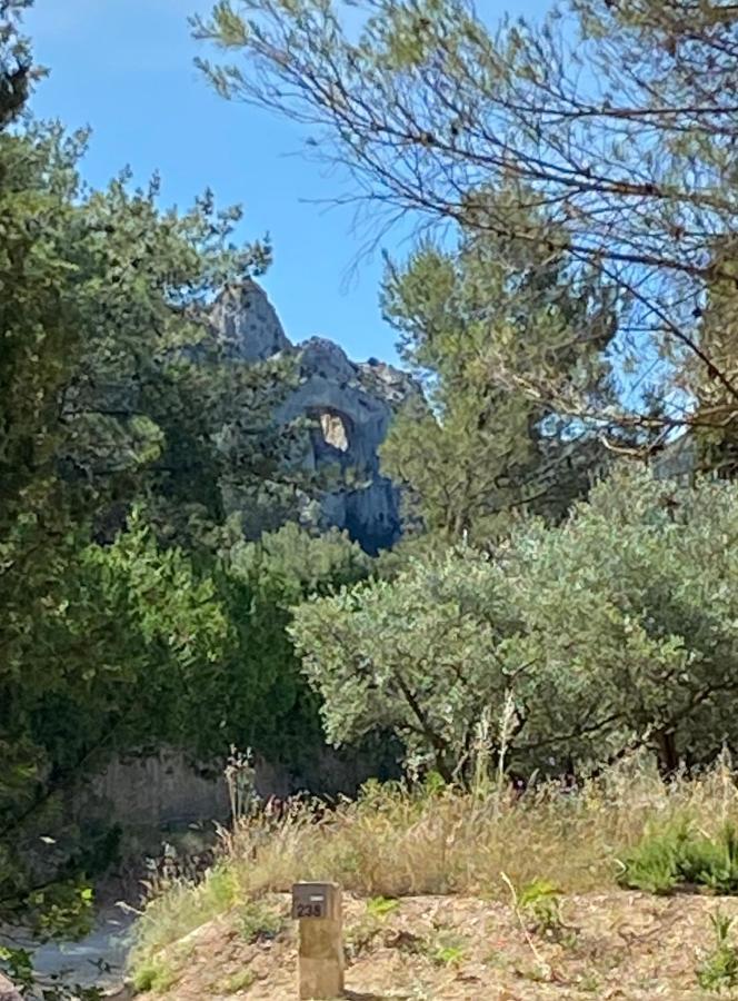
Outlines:
<svg viewBox="0 0 738 1001"><path fill-rule="evenodd" d="M551 880L564 893L614 889L619 856L649 827L685 819L714 834L738 823L736 777L721 760L700 777L665 783L638 757L574 792L550 784L516 797L499 786L481 794L369 783L321 819L309 805L278 824L247 817L225 834L202 884L176 885L149 903L134 952L150 955L299 880L335 880L366 896L507 898L502 873L515 885Z"/></svg>

